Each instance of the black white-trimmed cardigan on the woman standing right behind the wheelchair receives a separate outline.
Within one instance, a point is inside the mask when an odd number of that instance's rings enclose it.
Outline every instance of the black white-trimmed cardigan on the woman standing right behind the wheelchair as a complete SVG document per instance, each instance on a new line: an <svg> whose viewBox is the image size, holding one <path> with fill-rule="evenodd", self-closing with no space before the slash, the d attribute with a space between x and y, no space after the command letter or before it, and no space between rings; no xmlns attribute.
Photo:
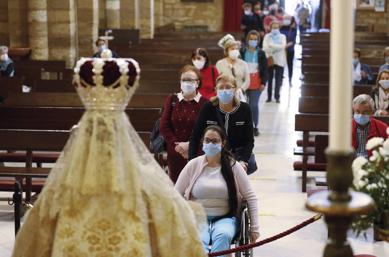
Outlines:
<svg viewBox="0 0 389 257"><path fill-rule="evenodd" d="M217 118L216 108L220 107L215 107L211 102L204 103L201 107L189 139L189 161L197 157L197 150L204 129L210 125L221 126ZM225 130L228 133L230 149L232 152L240 151L238 161L248 163L254 148L254 126L250 105L239 101L238 107L229 114L221 110L221 116L225 124ZM228 122L226 122L226 117L228 117Z"/></svg>

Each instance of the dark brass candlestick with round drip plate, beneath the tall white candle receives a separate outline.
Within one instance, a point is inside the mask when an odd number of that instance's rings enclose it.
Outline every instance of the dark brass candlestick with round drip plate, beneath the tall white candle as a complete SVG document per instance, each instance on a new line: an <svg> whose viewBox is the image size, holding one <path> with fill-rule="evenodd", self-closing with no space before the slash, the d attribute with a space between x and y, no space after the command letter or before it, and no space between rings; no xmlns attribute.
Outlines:
<svg viewBox="0 0 389 257"><path fill-rule="evenodd" d="M347 241L347 230L354 215L368 213L374 201L367 194L349 191L352 183L352 149L345 152L326 149L328 160L327 182L331 191L312 194L305 206L308 210L324 214L329 239L324 248L324 257L352 257Z"/></svg>

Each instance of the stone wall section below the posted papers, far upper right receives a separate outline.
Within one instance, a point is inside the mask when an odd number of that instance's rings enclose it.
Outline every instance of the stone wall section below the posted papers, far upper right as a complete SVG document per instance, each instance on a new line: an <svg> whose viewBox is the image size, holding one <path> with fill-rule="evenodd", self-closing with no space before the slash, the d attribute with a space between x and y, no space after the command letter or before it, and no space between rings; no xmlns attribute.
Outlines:
<svg viewBox="0 0 389 257"><path fill-rule="evenodd" d="M371 31L389 32L389 0L385 2L385 12L376 12L375 10L357 10L357 24L366 24Z"/></svg>

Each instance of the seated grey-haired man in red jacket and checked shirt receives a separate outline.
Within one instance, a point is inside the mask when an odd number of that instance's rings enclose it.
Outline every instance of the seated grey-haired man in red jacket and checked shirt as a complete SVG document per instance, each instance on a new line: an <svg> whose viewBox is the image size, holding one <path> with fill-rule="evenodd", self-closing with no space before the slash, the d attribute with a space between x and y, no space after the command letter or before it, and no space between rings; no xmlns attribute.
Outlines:
<svg viewBox="0 0 389 257"><path fill-rule="evenodd" d="M355 149L354 159L365 157L368 159L372 155L373 149L366 150L366 142L373 137L388 137L386 133L387 125L384 122L373 119L374 101L367 94L360 94L352 101L354 118L352 122L352 147Z"/></svg>

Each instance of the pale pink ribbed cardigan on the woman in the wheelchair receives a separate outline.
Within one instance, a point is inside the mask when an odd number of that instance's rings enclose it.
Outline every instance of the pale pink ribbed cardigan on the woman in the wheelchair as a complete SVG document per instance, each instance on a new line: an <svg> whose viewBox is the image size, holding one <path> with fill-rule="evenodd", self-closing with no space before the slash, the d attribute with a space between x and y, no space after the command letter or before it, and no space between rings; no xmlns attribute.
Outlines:
<svg viewBox="0 0 389 257"><path fill-rule="evenodd" d="M175 184L175 189L177 189L182 196L185 194L186 200L191 199L191 191L193 184L197 177L200 175L201 171L207 166L207 158L204 155L199 156L195 159L189 161L188 164L181 171L180 176L178 177L177 183ZM250 232L259 233L259 224L258 224L258 204L257 197L252 190L252 187L249 182L249 177L247 177L246 172L243 170L242 166L237 162L232 171L235 178L235 187L237 188L237 199L238 199L238 209L237 217L240 219L240 208L242 205L242 197L247 201L247 206L249 210L250 217Z"/></svg>

